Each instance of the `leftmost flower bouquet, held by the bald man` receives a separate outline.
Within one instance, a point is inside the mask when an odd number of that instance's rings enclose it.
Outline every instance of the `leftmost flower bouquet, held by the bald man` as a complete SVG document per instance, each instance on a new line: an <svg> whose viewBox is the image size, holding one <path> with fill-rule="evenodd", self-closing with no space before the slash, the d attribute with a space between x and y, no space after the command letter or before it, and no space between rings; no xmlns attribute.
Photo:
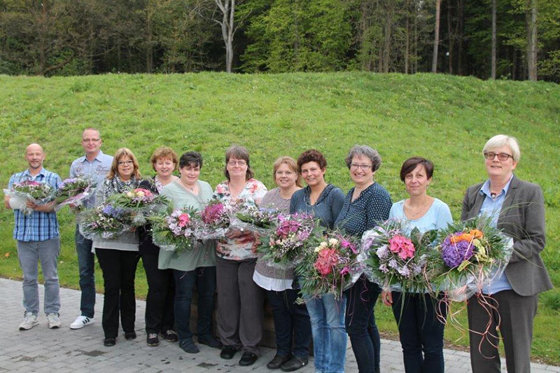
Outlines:
<svg viewBox="0 0 560 373"><path fill-rule="evenodd" d="M33 212L33 209L27 207L28 201L34 204L46 204L55 197L55 188L47 183L32 180L14 183L12 188L4 189L3 192L10 197L10 205L13 209L19 209L26 215Z"/></svg>

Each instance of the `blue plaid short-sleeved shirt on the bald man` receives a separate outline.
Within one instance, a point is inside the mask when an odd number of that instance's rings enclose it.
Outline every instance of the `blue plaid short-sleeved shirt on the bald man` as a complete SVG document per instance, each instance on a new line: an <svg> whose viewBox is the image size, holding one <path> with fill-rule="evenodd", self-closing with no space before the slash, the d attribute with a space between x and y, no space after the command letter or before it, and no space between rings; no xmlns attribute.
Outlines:
<svg viewBox="0 0 560 373"><path fill-rule="evenodd" d="M48 183L53 188L58 188L62 181L60 176L54 172L41 169L37 176L31 176L29 169L13 174L10 177L8 188L12 188L14 183L33 180L39 183ZM45 241L59 236L57 214L33 211L30 216L26 216L19 209L13 211L15 225L13 227L13 238L18 241Z"/></svg>

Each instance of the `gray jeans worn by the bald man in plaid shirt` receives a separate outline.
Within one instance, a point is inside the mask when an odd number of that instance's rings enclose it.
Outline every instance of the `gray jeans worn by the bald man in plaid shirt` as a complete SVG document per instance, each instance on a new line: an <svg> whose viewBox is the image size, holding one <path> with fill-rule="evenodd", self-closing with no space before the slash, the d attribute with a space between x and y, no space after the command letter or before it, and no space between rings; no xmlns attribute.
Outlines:
<svg viewBox="0 0 560 373"><path fill-rule="evenodd" d="M45 314L58 314L60 296L57 261L60 253L59 237L45 241L18 241L18 259L23 270L23 307L26 312L39 312L37 284L38 260L41 260L45 280Z"/></svg>

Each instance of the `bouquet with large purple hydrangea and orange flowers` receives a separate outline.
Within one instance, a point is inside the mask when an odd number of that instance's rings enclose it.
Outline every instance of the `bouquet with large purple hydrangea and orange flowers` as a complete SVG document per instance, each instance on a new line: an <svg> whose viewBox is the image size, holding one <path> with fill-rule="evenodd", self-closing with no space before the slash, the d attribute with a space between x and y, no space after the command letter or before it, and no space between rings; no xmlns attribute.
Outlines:
<svg viewBox="0 0 560 373"><path fill-rule="evenodd" d="M437 234L428 274L449 300L463 301L480 293L500 276L513 252L513 240L480 216L449 225Z"/></svg>

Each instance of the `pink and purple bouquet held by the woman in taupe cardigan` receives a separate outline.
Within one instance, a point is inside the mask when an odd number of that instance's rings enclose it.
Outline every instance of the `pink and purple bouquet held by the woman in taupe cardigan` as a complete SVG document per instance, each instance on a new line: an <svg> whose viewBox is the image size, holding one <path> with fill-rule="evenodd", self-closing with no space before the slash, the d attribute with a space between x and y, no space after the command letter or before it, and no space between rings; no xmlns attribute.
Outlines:
<svg viewBox="0 0 560 373"><path fill-rule="evenodd" d="M267 265L280 269L293 268L304 258L306 241L321 229L311 215L279 215L276 228L257 250Z"/></svg>

